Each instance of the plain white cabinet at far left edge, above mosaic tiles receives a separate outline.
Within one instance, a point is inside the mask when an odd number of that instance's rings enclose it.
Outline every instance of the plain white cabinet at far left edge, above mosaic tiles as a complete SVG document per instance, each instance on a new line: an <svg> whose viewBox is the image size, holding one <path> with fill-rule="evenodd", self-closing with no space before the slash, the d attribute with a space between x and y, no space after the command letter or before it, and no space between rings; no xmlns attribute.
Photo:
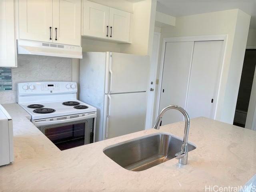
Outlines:
<svg viewBox="0 0 256 192"><path fill-rule="evenodd" d="M16 67L14 0L0 1L0 66Z"/></svg>

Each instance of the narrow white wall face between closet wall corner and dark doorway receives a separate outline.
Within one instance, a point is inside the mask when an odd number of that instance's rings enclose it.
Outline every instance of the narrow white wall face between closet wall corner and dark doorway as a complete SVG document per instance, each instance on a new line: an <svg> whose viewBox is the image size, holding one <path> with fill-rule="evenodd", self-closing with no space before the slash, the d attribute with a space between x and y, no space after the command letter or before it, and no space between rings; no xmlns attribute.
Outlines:
<svg viewBox="0 0 256 192"><path fill-rule="evenodd" d="M226 85L222 84L222 90L224 90L224 88L226 89L225 97L223 105L220 103L218 110L218 119L230 124L233 124L234 121L249 26L250 16L241 10L238 10L232 54L228 70L228 79Z"/></svg>

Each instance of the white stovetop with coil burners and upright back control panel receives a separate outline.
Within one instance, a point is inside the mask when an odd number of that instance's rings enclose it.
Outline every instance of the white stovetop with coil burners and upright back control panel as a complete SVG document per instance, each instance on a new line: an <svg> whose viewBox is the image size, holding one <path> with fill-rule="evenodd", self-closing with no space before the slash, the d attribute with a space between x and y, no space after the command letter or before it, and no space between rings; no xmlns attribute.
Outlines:
<svg viewBox="0 0 256 192"><path fill-rule="evenodd" d="M95 107L76 100L76 93L76 82L18 83L18 104L32 120L96 112Z"/></svg>

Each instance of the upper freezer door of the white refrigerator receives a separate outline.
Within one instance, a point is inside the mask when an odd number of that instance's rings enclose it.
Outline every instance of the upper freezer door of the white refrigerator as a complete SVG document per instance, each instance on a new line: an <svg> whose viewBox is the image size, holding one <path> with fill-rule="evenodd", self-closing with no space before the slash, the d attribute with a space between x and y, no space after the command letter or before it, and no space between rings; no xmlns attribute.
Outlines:
<svg viewBox="0 0 256 192"><path fill-rule="evenodd" d="M105 93L146 91L149 56L108 52Z"/></svg>

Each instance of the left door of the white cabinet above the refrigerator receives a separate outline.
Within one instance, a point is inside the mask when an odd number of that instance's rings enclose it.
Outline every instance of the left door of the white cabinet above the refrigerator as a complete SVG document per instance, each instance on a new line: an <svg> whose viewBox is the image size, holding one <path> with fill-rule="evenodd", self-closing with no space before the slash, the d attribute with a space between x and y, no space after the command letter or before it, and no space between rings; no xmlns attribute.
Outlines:
<svg viewBox="0 0 256 192"><path fill-rule="evenodd" d="M108 26L109 7L85 0L83 35L107 39Z"/></svg>

